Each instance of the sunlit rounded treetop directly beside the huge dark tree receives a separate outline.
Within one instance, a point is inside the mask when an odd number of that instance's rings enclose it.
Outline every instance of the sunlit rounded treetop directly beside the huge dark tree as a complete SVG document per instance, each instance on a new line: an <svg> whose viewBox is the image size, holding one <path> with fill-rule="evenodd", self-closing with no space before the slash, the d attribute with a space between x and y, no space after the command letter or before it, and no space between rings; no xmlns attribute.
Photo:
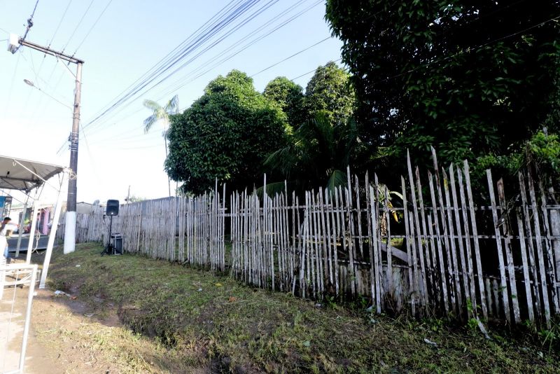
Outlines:
<svg viewBox="0 0 560 374"><path fill-rule="evenodd" d="M355 105L349 77L332 61L318 67L305 89L304 108L308 118L314 118L318 111L323 111L330 123L346 123L353 115Z"/></svg>

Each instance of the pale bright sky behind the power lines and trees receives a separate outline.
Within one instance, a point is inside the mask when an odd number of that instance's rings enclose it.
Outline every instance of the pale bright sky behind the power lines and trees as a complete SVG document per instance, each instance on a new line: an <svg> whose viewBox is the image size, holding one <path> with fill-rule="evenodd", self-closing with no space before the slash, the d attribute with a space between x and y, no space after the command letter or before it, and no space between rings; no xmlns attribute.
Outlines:
<svg viewBox="0 0 560 374"><path fill-rule="evenodd" d="M76 65L26 47L12 54L4 41L8 33L24 34L36 6L26 40L85 62L78 202L122 201L129 186L130 194L140 198L167 196L162 126L156 124L144 134L143 121L151 114L144 99L163 105L179 95L179 106L186 109L209 81L232 69L254 75L260 92L276 76L305 88L316 67L340 59L342 42L330 37L324 1L258 0L220 34L193 48L176 65L184 64L182 69L157 85L165 75L156 79L94 120L205 22L237 1L0 0L0 155L69 165ZM18 193L13 196L16 202L23 200ZM54 189L45 188L43 200L54 202Z"/></svg>

